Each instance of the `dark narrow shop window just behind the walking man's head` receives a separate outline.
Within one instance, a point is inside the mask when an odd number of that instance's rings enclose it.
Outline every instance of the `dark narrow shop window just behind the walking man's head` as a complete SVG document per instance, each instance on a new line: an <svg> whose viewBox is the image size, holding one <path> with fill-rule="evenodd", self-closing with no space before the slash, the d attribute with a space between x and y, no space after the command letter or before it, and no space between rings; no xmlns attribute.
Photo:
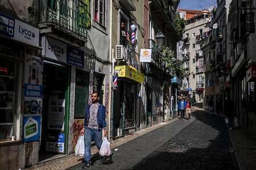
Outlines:
<svg viewBox="0 0 256 170"><path fill-rule="evenodd" d="M84 118L88 104L89 76L84 71L76 71L75 119Z"/></svg>

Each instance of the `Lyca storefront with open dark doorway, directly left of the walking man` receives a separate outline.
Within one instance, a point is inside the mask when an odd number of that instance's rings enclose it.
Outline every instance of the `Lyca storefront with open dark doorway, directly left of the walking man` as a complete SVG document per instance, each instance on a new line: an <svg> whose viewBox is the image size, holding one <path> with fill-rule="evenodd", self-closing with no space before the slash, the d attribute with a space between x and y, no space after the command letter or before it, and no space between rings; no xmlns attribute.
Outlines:
<svg viewBox="0 0 256 170"><path fill-rule="evenodd" d="M82 50L48 36L42 37L42 47L44 89L39 161L72 150L69 135L73 134L69 125L74 118L84 118L89 86L89 76L81 70ZM74 90L76 94L71 95ZM71 101L74 98L75 103Z"/></svg>

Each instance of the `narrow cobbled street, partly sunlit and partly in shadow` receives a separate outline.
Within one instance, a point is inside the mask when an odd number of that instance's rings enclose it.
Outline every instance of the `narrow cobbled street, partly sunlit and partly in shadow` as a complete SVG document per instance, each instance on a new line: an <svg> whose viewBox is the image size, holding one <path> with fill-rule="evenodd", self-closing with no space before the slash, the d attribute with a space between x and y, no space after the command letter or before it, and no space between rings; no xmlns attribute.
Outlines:
<svg viewBox="0 0 256 170"><path fill-rule="evenodd" d="M112 163L96 160L89 169L238 169L223 118L200 111L191 120L177 120L113 152Z"/></svg>

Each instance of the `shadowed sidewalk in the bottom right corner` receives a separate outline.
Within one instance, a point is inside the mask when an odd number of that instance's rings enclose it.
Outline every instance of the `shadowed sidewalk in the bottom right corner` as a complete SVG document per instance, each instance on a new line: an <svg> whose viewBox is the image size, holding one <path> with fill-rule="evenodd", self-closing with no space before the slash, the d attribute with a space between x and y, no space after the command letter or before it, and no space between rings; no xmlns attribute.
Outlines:
<svg viewBox="0 0 256 170"><path fill-rule="evenodd" d="M256 139L251 137L247 129L229 131L230 138L241 170L256 169Z"/></svg>

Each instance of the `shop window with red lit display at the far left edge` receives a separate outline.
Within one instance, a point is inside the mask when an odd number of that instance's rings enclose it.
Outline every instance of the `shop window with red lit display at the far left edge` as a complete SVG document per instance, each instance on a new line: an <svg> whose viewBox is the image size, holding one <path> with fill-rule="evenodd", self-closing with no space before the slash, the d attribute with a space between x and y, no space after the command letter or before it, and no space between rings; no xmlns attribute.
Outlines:
<svg viewBox="0 0 256 170"><path fill-rule="evenodd" d="M15 127L16 64L0 62L0 142L10 141Z"/></svg>

